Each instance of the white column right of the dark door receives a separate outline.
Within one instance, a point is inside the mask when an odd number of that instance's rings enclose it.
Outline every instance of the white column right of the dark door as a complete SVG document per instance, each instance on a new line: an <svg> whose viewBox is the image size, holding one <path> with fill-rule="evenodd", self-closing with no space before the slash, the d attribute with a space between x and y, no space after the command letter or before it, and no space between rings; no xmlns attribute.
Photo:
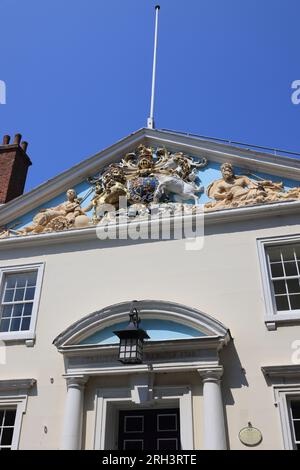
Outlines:
<svg viewBox="0 0 300 470"><path fill-rule="evenodd" d="M227 448L221 376L223 368L198 370L203 382L204 447L207 450Z"/></svg>

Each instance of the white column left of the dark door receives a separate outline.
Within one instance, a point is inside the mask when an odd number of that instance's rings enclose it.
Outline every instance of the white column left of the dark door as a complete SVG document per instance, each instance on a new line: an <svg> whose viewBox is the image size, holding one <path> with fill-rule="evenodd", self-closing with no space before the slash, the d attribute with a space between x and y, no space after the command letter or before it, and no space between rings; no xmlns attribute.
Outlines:
<svg viewBox="0 0 300 470"><path fill-rule="evenodd" d="M82 440L82 417L84 386L88 380L81 375L67 377L67 400L64 418L62 449L80 450Z"/></svg>

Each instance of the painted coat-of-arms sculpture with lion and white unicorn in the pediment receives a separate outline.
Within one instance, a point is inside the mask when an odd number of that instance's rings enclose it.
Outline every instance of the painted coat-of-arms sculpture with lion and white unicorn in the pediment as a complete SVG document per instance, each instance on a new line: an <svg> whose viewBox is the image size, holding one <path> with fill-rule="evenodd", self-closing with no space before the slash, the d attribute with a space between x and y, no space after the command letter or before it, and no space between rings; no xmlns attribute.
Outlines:
<svg viewBox="0 0 300 470"><path fill-rule="evenodd" d="M99 222L105 205L119 209L120 196L126 197L128 206L145 212L151 205L168 202L197 202L204 188L197 184L198 170L207 165L205 158L197 162L182 152L170 153L140 145L136 152L128 153L120 163L109 165L100 175L89 178L95 185L93 221Z"/></svg>

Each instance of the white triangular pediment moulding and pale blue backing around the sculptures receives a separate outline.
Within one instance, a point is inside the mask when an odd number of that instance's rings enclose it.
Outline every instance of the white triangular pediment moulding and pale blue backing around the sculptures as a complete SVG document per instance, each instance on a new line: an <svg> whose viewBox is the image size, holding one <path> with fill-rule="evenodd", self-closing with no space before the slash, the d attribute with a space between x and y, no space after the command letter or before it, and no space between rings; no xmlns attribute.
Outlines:
<svg viewBox="0 0 300 470"><path fill-rule="evenodd" d="M134 172L134 169L138 170L139 162L137 160L139 155L137 149L141 145L145 149L151 148L153 150L153 158L155 160L153 172L146 172L145 175L141 171L139 173ZM165 149L165 156L162 154L156 155L157 149ZM124 158L126 159L125 156L128 154L132 155L132 157L127 157L127 163L124 167ZM175 163L173 166L166 164L168 158L170 161L174 155L180 154L183 158L186 158L186 162L177 159L177 168ZM164 163L161 164L160 162L164 158ZM201 163L204 161L207 161L207 163L201 166ZM219 193L222 193L222 191L226 193L227 191L228 185L222 185L223 174L221 165L224 163L231 164L235 177L239 178L236 186L243 187L244 185L244 187L247 187L248 183L245 183L246 180L253 182L254 186L256 185L252 192L250 191L249 195L245 197L240 196L240 188L237 188L237 191L234 188L233 199L238 194L236 197L238 203L236 205L229 203L226 203L227 206L222 205L222 203L215 204ZM64 204L67 200L66 191L71 188L75 190L76 198L80 201L81 207L87 209L92 205L96 195L97 182L94 177L98 177L99 180L99 175L101 176L103 171L112 164L119 168L123 166L122 171L125 169L125 186L127 185L127 189L133 199L141 193L140 187L143 185L148 185L147 191L154 193L158 185L158 176L167 175L170 180L172 169L175 176L179 180L181 179L183 184L187 185L186 194L181 190L175 190L173 194L172 187L174 185L172 186L172 182L169 181L168 185L163 185L161 190L161 193L167 193L167 195L164 194L166 199L162 199L159 202L178 202L176 197L179 197L179 201L181 198L185 204L204 204L207 210L223 210L254 204L300 200L297 191L300 181L300 162L296 158L275 156L267 152L239 148L230 144L212 142L171 131L140 129L111 147L43 183L29 193L0 207L0 226L10 230L11 232L9 233L12 235L14 231L17 232L26 227L31 227L34 217L40 214L42 209L57 208ZM184 165L190 165L186 173ZM192 180L192 174L196 176L196 180ZM245 181L242 181L242 177L245 178ZM89 178L94 179L91 182L91 180L88 180ZM194 191L189 189L188 185L190 183L202 190ZM100 190L103 190L102 182L101 185ZM134 185L135 188L133 187ZM139 186L138 189L137 186ZM145 191L143 191L142 197L144 197L144 194ZM196 197L194 197L195 195ZM153 194L150 194L150 200L142 200L142 203L145 201L147 204L151 203L152 196ZM189 198L188 196L191 197ZM159 197L161 197L160 194ZM241 204L240 201L242 201ZM137 203L137 200L133 202ZM89 218L89 220L93 218L93 210L94 208L84 212L85 217ZM46 213L47 216L48 213ZM84 216L82 216L82 227L86 226L85 220L87 219L84 219ZM54 230L57 229L59 231L66 228L64 227L63 219L57 219L56 222ZM80 228L80 224L78 227Z"/></svg>

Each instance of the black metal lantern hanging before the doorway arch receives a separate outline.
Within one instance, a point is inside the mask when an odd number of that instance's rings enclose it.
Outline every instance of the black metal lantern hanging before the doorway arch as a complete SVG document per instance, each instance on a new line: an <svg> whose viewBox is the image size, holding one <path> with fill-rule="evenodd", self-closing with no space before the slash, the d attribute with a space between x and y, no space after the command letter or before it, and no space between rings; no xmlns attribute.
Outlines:
<svg viewBox="0 0 300 470"><path fill-rule="evenodd" d="M123 364L141 364L144 340L149 338L146 331L139 328L141 320L137 304L136 300L132 302L127 327L124 330L114 331L114 334L120 338L119 361Z"/></svg>

